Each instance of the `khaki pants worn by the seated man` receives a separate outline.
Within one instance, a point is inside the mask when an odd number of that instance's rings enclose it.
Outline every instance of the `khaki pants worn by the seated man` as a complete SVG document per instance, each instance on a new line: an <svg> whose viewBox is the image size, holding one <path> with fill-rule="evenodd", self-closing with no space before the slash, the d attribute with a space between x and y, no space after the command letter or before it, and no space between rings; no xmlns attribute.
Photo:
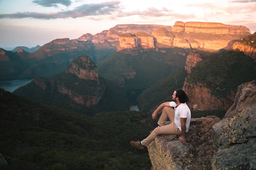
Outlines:
<svg viewBox="0 0 256 170"><path fill-rule="evenodd" d="M162 114L157 122L160 127L155 128L150 135L148 135L145 139L142 140L143 145L147 146L151 143L152 140L157 137L157 135L180 135L181 131L174 123L174 109L171 107L164 107ZM170 120L170 124L164 125L167 120L167 117Z"/></svg>

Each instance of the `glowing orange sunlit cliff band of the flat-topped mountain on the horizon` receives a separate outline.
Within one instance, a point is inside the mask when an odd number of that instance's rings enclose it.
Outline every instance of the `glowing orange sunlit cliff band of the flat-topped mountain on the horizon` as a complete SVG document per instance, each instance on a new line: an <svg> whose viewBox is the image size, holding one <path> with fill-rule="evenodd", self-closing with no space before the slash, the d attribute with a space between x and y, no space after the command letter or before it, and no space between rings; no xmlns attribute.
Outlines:
<svg viewBox="0 0 256 170"><path fill-rule="evenodd" d="M228 48L232 40L250 35L249 29L244 26L230 26L215 22L184 23L177 21L172 29L166 26L157 27L154 25L119 25L114 27L112 31L115 36L120 36L121 33L124 33L123 29L126 29L126 33L135 34L136 31L142 31L150 34L156 41L155 46L151 47L177 46L182 48L202 48L206 51ZM153 44L154 41L151 41L151 43ZM119 49L127 46L123 42L120 42L119 45ZM136 46L136 44L134 45Z"/></svg>

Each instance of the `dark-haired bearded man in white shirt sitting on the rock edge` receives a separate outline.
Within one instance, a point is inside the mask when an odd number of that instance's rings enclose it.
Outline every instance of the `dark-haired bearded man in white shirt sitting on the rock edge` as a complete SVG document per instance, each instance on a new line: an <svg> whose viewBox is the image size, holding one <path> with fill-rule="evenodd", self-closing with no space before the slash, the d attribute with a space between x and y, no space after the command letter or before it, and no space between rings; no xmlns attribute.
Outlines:
<svg viewBox="0 0 256 170"><path fill-rule="evenodd" d="M144 146L147 147L155 137L163 134L180 135L179 140L182 142L185 141L186 132L188 132L191 119L191 112L186 104L188 97L185 91L181 89L175 90L173 93L173 101L174 102L164 102L157 107L152 114L153 119L155 119L158 112L163 109L157 122L158 127L155 128L145 139L141 141L131 141L131 144L135 148L144 149ZM174 109L171 107L174 107ZM164 125L167 117L171 123Z"/></svg>

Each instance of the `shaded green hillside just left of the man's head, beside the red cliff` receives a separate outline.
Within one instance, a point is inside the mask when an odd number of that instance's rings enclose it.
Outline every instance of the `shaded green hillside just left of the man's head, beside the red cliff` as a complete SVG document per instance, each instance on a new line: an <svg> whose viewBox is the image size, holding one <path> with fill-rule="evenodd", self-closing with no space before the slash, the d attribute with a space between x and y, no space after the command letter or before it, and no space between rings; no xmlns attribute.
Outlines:
<svg viewBox="0 0 256 170"><path fill-rule="evenodd" d="M144 90L138 98L141 111L150 111L167 101L172 101L174 90L182 88L187 73L184 69L164 78Z"/></svg>

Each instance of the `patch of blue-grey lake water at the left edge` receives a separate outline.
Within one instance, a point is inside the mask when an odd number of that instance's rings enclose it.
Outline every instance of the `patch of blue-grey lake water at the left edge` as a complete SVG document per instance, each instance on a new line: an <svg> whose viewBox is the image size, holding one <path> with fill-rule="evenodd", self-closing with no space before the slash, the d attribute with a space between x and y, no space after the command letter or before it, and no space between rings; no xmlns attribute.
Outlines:
<svg viewBox="0 0 256 170"><path fill-rule="evenodd" d="M13 92L17 88L30 83L33 79L0 81L0 88Z"/></svg>

